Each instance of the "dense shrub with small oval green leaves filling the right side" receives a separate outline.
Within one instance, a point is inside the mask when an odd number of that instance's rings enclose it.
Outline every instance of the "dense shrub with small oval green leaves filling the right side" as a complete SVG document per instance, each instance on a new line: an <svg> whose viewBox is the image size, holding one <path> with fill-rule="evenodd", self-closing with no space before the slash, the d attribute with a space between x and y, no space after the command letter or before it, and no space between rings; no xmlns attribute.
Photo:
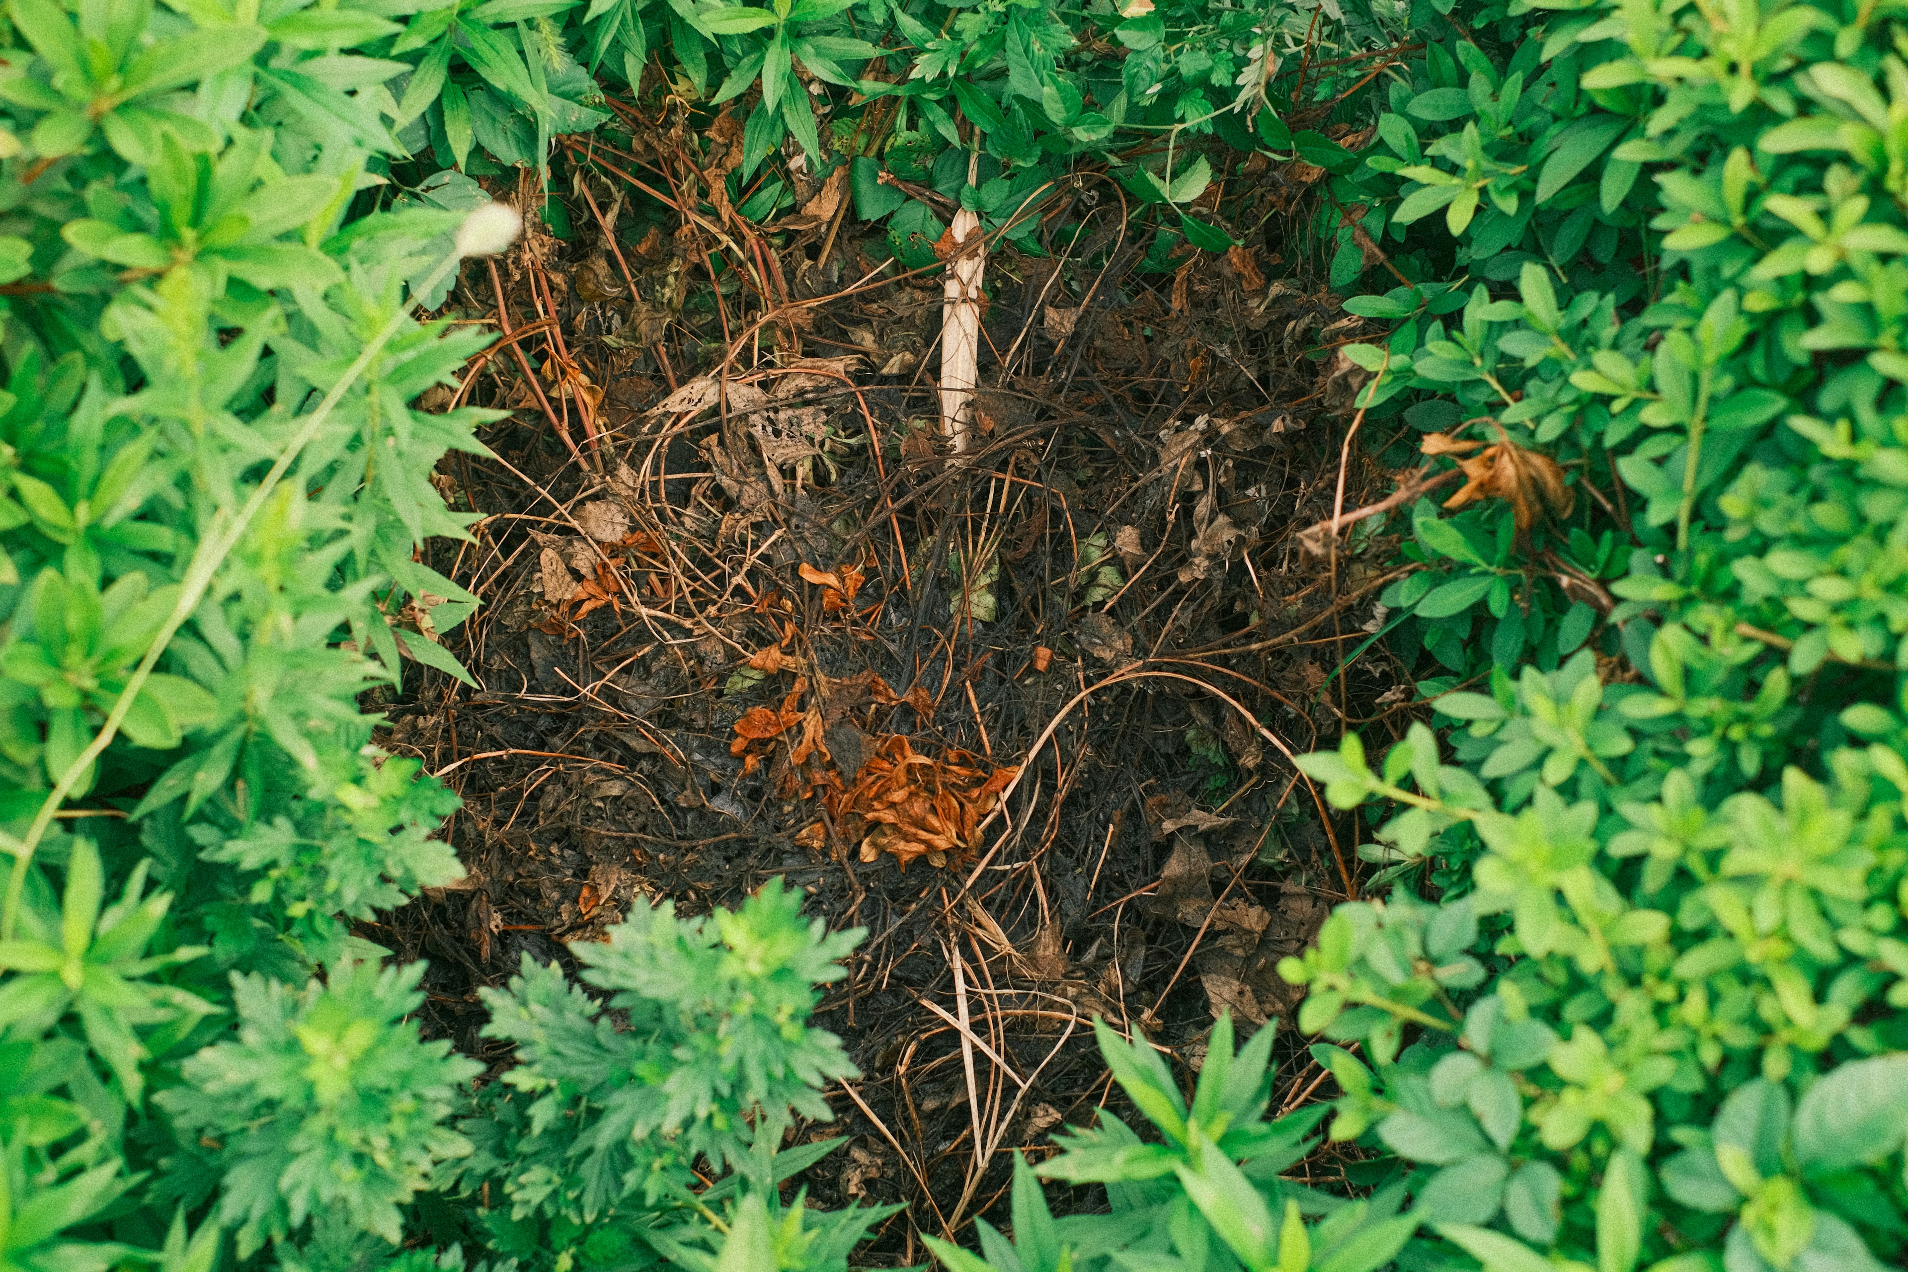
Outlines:
<svg viewBox="0 0 1908 1272"><path fill-rule="evenodd" d="M1347 355L1368 418L1521 475L1420 502L1383 595L1448 738L1301 759L1389 809L1391 894L1282 967L1362 1047L1330 1133L1416 1167L1421 1266L1895 1266L1897 19L1462 21L1355 177L1414 282L1347 301L1395 324Z"/></svg>

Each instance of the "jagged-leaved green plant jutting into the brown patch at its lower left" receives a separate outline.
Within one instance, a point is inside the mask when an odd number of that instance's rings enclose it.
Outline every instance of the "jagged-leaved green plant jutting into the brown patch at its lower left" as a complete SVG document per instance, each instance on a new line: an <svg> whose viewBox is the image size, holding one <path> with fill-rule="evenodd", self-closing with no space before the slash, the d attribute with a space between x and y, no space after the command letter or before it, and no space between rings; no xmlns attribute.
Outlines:
<svg viewBox="0 0 1908 1272"><path fill-rule="evenodd" d="M466 1123L479 1154L462 1186L500 1194L487 1219L496 1249L532 1266L641 1266L658 1251L696 1266L714 1236L696 1215L723 1205L738 1224L731 1241L777 1251L775 1264L744 1266L845 1266L887 1211L813 1213L775 1192L836 1146L777 1152L790 1119L832 1118L820 1087L859 1076L807 1018L862 933L803 921L799 898L771 881L733 913L637 910L607 944L576 946L582 980L607 1003L529 959L508 990L483 992L485 1032L515 1041L519 1058ZM698 1158L736 1175L704 1190Z"/></svg>

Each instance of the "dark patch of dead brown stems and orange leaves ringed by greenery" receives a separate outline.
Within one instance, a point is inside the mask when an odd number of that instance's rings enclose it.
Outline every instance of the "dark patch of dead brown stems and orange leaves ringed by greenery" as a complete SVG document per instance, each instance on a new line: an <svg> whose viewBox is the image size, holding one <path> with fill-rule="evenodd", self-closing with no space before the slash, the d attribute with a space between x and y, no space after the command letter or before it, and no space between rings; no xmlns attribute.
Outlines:
<svg viewBox="0 0 1908 1272"><path fill-rule="evenodd" d="M1049 257L988 261L954 462L939 282L883 271L840 183L757 227L704 175L719 130L645 145L570 151L569 236L450 296L517 334L464 395L511 410L498 460L439 473L485 513L433 559L485 601L445 639L481 688L416 677L387 746L464 795L471 873L368 934L431 959L429 1030L502 1060L475 990L523 954L788 877L868 929L819 1018L864 1077L813 1135L851 1140L803 1182L906 1201L862 1255L901 1266L1109 1098L1093 1015L1191 1072L1217 1009L1290 1015L1273 965L1357 877L1286 759L1404 727L1366 648L1379 519L1297 542L1387 481L1343 467L1357 318L1294 246L1334 214L1292 166L1225 174L1206 212L1246 246L1147 271L1107 183L1055 193ZM1282 1051L1280 1098L1317 1097Z"/></svg>

